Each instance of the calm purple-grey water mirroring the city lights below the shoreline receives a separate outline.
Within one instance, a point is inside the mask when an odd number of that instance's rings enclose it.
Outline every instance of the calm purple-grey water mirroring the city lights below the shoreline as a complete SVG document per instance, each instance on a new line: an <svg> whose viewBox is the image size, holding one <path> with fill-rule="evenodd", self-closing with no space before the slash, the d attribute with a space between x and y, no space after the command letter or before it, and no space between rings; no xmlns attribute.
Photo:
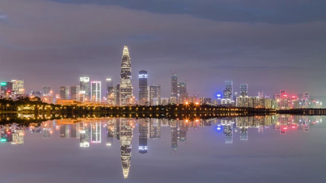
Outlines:
<svg viewBox="0 0 326 183"><path fill-rule="evenodd" d="M325 182L325 121L103 118L3 127L0 182Z"/></svg>

